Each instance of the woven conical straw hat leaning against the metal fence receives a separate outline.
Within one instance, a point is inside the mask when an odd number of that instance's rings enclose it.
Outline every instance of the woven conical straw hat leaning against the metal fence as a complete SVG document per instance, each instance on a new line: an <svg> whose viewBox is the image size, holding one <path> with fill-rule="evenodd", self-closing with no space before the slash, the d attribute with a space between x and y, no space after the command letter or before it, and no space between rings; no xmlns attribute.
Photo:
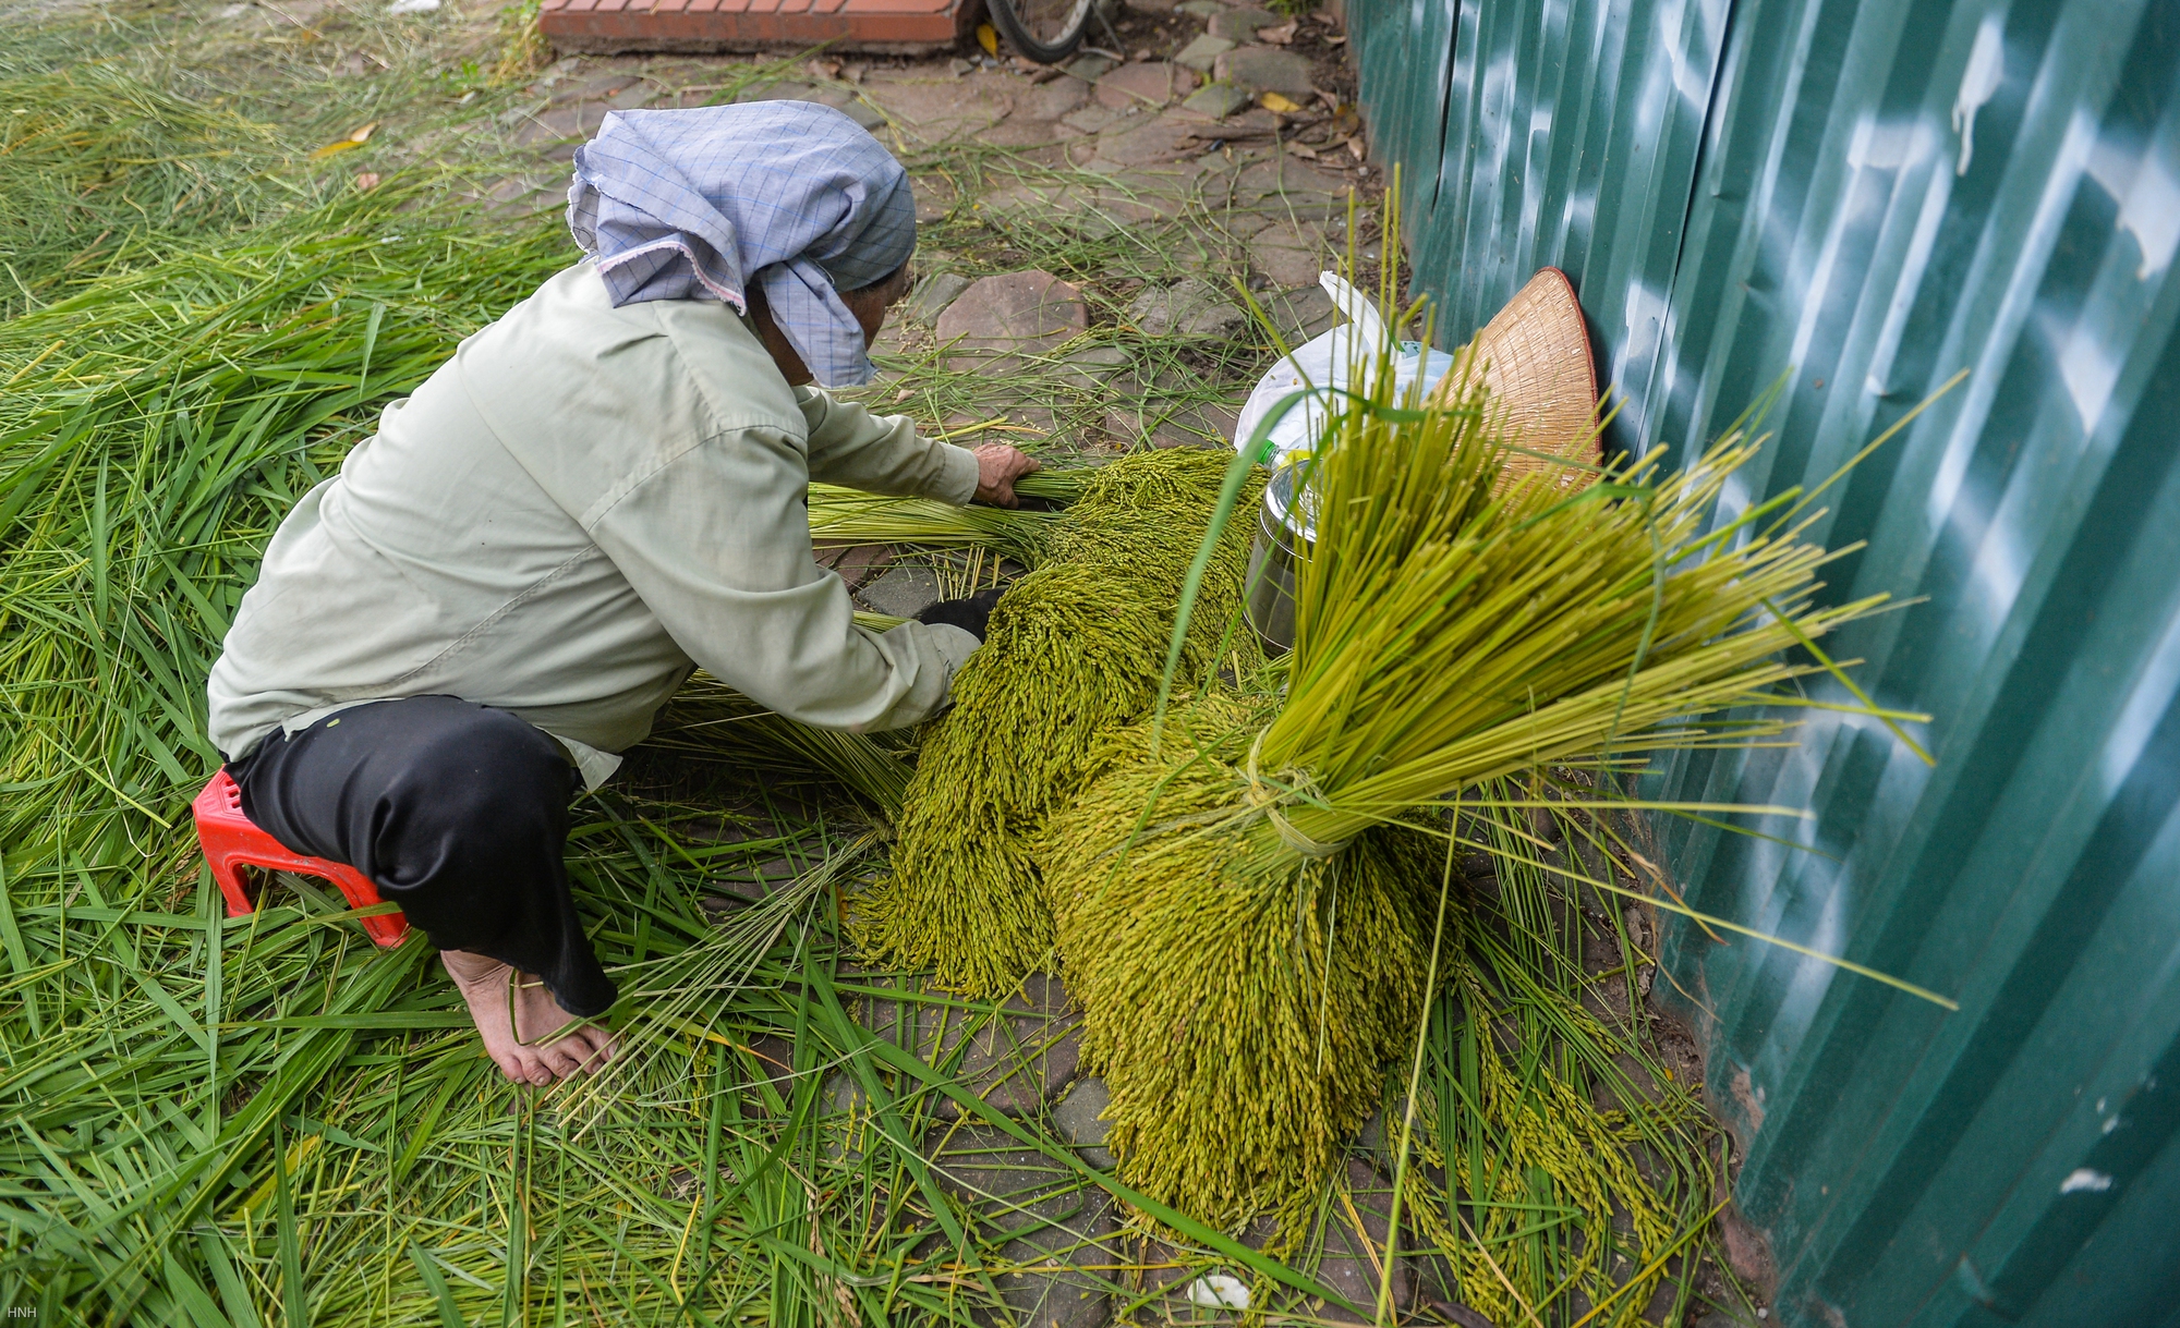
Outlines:
<svg viewBox="0 0 2180 1328"><path fill-rule="evenodd" d="M1574 283L1565 272L1539 268L1476 340L1461 348L1437 394L1458 398L1476 366L1491 392L1493 425L1506 442L1598 464L1598 368L1589 355L1583 307L1574 300ZM1506 453L1500 488L1539 472L1570 492L1596 479L1594 470Z"/></svg>

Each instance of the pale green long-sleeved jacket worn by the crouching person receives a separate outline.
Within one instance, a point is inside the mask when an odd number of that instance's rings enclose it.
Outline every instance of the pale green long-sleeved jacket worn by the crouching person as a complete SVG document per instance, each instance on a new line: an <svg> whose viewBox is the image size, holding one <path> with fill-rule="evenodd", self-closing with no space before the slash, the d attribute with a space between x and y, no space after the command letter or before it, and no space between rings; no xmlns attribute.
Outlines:
<svg viewBox="0 0 2180 1328"><path fill-rule="evenodd" d="M811 557L811 479L968 503L977 457L789 388L722 303L615 309L578 263L288 514L211 668L211 742L451 694L560 738L595 788L695 666L813 725L927 718L977 638L857 627Z"/></svg>

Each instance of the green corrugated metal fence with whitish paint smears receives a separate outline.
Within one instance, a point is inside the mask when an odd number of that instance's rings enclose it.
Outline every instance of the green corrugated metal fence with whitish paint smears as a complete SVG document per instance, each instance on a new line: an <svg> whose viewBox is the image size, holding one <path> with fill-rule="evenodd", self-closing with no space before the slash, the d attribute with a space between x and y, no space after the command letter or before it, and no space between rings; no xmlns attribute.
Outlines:
<svg viewBox="0 0 2180 1328"><path fill-rule="evenodd" d="M1681 932L1788 1324L2180 1324L2180 0L1349 0L1417 281L1465 335L1567 270L1618 442L1792 374L1733 505L1822 481L1877 701L1674 797Z"/></svg>

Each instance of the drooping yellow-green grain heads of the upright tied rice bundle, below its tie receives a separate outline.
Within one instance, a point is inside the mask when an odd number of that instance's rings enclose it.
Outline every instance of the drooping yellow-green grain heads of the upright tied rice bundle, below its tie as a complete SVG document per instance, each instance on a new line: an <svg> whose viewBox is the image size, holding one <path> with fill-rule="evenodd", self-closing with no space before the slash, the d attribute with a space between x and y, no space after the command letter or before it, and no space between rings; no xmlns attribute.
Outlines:
<svg viewBox="0 0 2180 1328"><path fill-rule="evenodd" d="M1114 734L1038 860L1121 1178L1227 1230L1273 1210L1284 1243L1413 1038L1437 849L1378 827L1308 858L1236 814L1264 718L1212 694L1158 751L1149 725Z"/></svg>

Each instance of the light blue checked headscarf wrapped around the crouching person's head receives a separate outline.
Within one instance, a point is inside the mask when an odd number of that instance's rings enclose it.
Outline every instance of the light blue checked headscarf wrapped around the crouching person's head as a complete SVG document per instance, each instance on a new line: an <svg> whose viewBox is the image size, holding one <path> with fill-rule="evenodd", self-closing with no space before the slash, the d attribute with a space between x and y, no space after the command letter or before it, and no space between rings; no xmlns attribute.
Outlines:
<svg viewBox="0 0 2180 1328"><path fill-rule="evenodd" d="M813 102L613 111L576 150L567 229L615 305L726 300L754 281L826 388L872 379L839 292L916 250L909 172L863 126Z"/></svg>

